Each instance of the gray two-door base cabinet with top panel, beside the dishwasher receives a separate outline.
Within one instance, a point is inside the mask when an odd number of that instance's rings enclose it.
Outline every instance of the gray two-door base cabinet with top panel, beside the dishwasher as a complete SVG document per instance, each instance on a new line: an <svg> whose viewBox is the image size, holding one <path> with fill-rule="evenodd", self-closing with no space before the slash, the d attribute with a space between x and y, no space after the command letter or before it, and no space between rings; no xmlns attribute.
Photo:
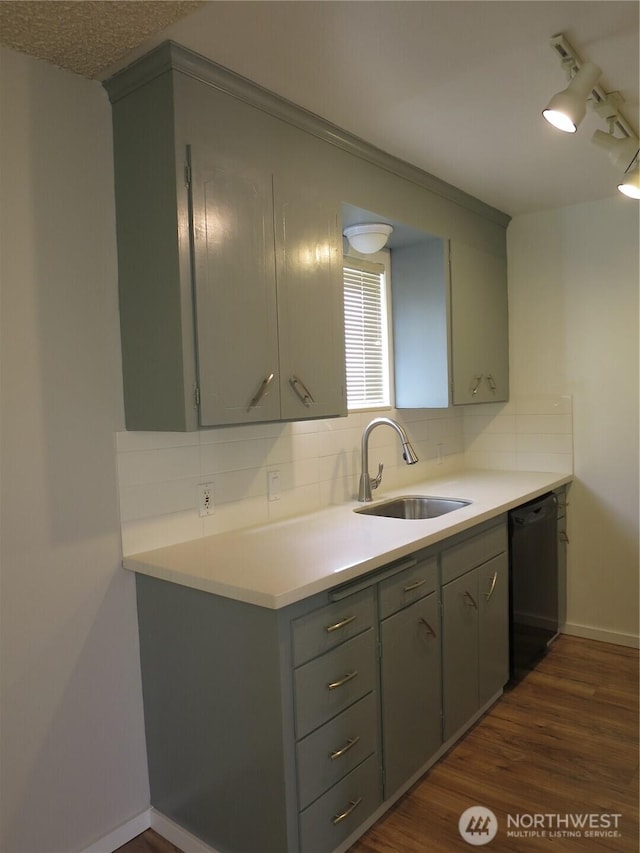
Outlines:
<svg viewBox="0 0 640 853"><path fill-rule="evenodd" d="M460 731L509 678L506 545L506 528L501 524L463 540L442 556L445 741ZM483 559L496 550L494 556ZM445 583L449 577L452 579Z"/></svg>

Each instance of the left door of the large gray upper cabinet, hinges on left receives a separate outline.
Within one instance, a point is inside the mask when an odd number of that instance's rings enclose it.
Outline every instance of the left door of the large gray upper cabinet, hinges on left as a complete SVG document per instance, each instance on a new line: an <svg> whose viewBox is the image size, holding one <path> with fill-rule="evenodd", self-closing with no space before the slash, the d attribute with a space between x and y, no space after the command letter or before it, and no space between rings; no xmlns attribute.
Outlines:
<svg viewBox="0 0 640 853"><path fill-rule="evenodd" d="M193 152L202 426L280 417L272 198L270 173Z"/></svg>

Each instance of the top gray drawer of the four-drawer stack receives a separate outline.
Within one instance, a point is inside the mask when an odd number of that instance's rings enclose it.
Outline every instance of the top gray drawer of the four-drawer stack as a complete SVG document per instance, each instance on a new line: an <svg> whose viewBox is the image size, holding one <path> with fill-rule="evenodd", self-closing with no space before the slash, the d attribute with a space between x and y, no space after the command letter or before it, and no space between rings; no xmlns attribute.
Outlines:
<svg viewBox="0 0 640 853"><path fill-rule="evenodd" d="M300 666L371 628L374 607L374 588L370 587L294 619L293 665Z"/></svg>

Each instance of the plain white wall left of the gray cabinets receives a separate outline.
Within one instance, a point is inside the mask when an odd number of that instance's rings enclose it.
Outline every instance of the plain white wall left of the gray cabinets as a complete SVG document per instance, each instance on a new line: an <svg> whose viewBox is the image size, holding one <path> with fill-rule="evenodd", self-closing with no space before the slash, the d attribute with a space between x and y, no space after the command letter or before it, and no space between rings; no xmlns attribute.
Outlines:
<svg viewBox="0 0 640 853"><path fill-rule="evenodd" d="M1 49L0 849L69 853L149 804L122 429L110 107Z"/></svg>

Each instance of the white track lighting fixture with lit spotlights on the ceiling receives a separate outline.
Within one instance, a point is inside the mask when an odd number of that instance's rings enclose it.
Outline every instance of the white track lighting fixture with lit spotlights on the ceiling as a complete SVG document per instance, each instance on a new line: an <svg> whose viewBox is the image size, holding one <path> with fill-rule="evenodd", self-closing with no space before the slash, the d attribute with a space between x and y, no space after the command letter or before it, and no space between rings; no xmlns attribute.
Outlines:
<svg viewBox="0 0 640 853"><path fill-rule="evenodd" d="M593 62L583 62L561 33L551 39L551 48L560 57L569 75L569 85L551 98L542 111L545 119L566 133L575 133L585 116L587 103L607 122L608 132L596 130L591 141L609 154L611 164L626 174L618 189L630 198L640 198L638 134L620 112L622 96L606 93L598 80L602 70Z"/></svg>

